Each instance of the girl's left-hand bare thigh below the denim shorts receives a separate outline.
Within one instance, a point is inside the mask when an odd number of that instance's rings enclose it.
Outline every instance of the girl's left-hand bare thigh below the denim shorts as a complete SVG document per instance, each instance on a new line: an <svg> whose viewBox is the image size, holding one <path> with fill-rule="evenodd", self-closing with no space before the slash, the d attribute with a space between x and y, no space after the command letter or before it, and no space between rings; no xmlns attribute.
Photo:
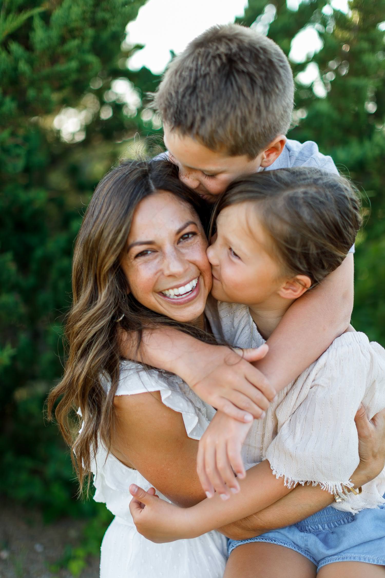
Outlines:
<svg viewBox="0 0 385 578"><path fill-rule="evenodd" d="M268 542L248 542L231 552L223 578L240 578L240 576L315 578L316 566L308 558L290 548Z"/></svg>

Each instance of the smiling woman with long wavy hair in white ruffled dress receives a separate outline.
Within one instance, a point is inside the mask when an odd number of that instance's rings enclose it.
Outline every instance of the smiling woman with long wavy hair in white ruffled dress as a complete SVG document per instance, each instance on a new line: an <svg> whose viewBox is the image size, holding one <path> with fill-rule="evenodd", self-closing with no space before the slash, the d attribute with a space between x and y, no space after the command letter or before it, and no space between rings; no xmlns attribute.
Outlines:
<svg viewBox="0 0 385 578"><path fill-rule="evenodd" d="M184 506L204 499L196 475L197 440L214 410L176 376L130 362L119 368L118 355L122 332L136 331L140 348L141 330L158 324L212 340L204 331L211 270L201 209L174 165L126 163L99 183L77 239L69 357L48 409L63 396L56 416L74 450L80 484L93 472L95 499L116 516L103 539L102 577L223 575L227 540L219 532L152 544L136 531L129 513L131 483L151 484ZM68 420L74 407L83 417L75 440ZM372 477L377 464L373 469ZM361 475L367 476L364 462ZM298 503L304 489L291 492ZM268 515L274 518L274 512ZM263 512L259 518L269 528ZM237 537L237 524L226 532Z"/></svg>

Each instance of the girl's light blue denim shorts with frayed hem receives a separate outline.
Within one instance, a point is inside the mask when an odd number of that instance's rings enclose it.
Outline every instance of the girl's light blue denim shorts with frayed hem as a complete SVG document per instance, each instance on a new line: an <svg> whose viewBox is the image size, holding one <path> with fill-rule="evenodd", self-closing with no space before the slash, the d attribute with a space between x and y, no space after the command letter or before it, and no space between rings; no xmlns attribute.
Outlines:
<svg viewBox="0 0 385 578"><path fill-rule="evenodd" d="M384 496L385 498L385 496ZM247 540L229 540L229 555L249 542L269 542L309 558L317 572L333 562L368 562L385 566L385 504L357 514L328 506L298 524Z"/></svg>

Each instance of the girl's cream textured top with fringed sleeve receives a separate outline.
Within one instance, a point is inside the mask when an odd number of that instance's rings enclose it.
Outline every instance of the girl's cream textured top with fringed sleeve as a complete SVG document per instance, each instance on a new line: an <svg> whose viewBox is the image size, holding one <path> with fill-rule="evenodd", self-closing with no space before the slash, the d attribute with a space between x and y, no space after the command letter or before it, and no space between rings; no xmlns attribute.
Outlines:
<svg viewBox="0 0 385 578"><path fill-rule="evenodd" d="M211 300L206 313L217 338L243 348L264 343L245 305ZM369 418L385 407L385 350L348 332L279 392L264 420L253 421L243 447L245 467L268 460L289 487L312 483L341 492L342 484L352 485L360 461L354 416L361 401ZM384 493L385 469L361 495L350 494L334 507L356 513L384 503Z"/></svg>

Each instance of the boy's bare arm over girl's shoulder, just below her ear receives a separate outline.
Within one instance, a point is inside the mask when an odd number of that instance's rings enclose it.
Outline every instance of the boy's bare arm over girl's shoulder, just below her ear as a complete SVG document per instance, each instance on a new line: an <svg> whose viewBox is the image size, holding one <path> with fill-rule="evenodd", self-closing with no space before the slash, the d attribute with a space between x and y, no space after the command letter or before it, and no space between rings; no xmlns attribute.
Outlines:
<svg viewBox="0 0 385 578"><path fill-rule="evenodd" d="M326 351L350 323L353 253L319 286L293 303L272 332L266 357L256 363L278 392Z"/></svg>

